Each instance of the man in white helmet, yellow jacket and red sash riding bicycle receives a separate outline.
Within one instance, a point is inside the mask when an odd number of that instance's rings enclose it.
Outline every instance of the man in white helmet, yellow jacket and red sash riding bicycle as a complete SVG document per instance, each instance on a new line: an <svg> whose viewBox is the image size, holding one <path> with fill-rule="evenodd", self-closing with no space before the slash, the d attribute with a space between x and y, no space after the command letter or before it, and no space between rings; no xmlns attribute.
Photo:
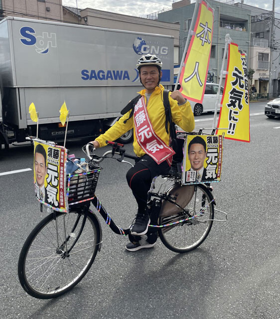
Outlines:
<svg viewBox="0 0 280 319"><path fill-rule="evenodd" d="M151 54L141 56L137 63L140 82L144 89L137 104L129 110L107 132L91 142L97 149L106 146L106 141L115 141L129 130L134 129L134 152L139 158L127 172L127 181L138 203L138 212L131 226L131 234L146 234L150 222L147 209L147 193L153 177L169 171L175 152L169 147L170 129L165 129L163 105L164 87L159 84L162 72L161 60ZM184 131L194 129L194 116L189 102L177 90L169 92L172 121ZM126 249L136 251L153 247L155 243L144 240L129 243Z"/></svg>

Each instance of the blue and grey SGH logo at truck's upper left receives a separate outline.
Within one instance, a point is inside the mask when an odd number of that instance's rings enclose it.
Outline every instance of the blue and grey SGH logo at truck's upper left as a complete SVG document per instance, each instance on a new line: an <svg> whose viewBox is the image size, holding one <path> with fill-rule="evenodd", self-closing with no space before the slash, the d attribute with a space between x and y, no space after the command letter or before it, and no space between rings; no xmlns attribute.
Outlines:
<svg viewBox="0 0 280 319"><path fill-rule="evenodd" d="M33 35L34 34L34 35ZM24 45L35 45L37 53L48 53L49 47L56 48L56 34L42 32L42 35L35 36L36 32L30 26L20 28L20 41Z"/></svg>

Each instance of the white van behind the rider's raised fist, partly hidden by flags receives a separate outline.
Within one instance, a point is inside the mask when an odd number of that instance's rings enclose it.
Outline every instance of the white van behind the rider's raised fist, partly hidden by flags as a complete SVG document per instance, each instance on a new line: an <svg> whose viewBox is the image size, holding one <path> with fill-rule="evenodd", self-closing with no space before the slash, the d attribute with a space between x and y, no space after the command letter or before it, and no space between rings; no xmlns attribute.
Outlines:
<svg viewBox="0 0 280 319"><path fill-rule="evenodd" d="M201 115L203 112L214 112L216 104L216 94L218 92L219 84L206 83L205 93L202 103L190 101L191 109L195 116ZM221 103L224 88L221 86L219 103ZM220 107L218 107L218 112Z"/></svg>

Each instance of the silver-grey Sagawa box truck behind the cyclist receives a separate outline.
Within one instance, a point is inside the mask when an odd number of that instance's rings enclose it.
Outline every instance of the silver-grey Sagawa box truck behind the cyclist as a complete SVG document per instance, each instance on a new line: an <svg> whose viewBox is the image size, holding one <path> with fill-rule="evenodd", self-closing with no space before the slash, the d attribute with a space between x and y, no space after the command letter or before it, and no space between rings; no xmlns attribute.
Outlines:
<svg viewBox="0 0 280 319"><path fill-rule="evenodd" d="M0 145L36 135L29 115L39 112L39 138L64 140L59 109L69 109L68 139L94 137L119 117L141 89L136 62L156 54L161 83L173 81L171 36L7 17L0 21ZM132 132L131 132L132 133ZM129 141L128 134L123 142Z"/></svg>

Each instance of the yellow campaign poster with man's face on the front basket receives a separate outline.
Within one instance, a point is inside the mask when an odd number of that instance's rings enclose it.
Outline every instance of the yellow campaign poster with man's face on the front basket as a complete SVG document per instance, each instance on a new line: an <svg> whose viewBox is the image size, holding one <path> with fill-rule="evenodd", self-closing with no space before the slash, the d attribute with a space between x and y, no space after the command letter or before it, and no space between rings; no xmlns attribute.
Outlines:
<svg viewBox="0 0 280 319"><path fill-rule="evenodd" d="M37 199L44 205L68 211L65 187L66 149L34 141L34 186Z"/></svg>

